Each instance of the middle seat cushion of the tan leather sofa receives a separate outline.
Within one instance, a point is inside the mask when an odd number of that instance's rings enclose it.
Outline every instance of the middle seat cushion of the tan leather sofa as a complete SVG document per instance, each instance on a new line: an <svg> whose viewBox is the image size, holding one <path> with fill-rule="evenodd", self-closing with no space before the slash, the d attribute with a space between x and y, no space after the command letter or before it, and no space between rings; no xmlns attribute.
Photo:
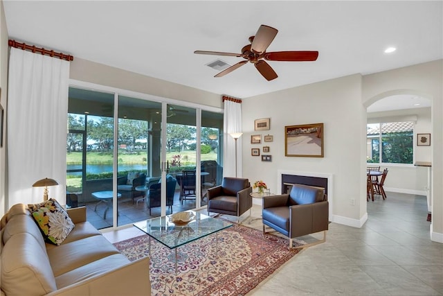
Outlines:
<svg viewBox="0 0 443 296"><path fill-rule="evenodd" d="M47 249L46 252L55 277L106 256L120 254L116 247L101 235L62 244Z"/></svg>

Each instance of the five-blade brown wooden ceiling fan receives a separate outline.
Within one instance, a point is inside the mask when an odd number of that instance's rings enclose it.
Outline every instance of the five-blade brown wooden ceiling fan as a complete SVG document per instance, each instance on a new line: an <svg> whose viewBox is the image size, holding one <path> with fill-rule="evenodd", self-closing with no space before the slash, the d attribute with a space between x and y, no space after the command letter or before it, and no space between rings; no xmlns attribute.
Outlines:
<svg viewBox="0 0 443 296"><path fill-rule="evenodd" d="M254 64L255 68L262 74L266 80L273 80L278 77L277 73L269 66L265 60L283 61L283 62L305 62L314 61L318 58L318 51L273 51L266 53L266 49L271 44L278 30L270 26L262 25L258 28L255 36L249 37L248 44L242 48L242 53L223 53L219 51L194 51L200 55L228 55L238 58L244 58L241 62L224 69L214 77L225 76L226 74L242 67L247 62Z"/></svg>

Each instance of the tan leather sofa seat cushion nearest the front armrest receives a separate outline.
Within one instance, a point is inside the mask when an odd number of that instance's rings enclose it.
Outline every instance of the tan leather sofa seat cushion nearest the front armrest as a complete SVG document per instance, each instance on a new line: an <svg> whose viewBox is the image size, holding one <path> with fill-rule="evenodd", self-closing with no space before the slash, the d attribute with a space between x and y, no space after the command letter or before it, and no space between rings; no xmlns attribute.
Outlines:
<svg viewBox="0 0 443 296"><path fill-rule="evenodd" d="M96 275L102 275L105 272L109 272L109 270L117 270L129 263L129 259L123 254L114 254L65 272L55 277L55 282L59 289L64 288L91 277L96 277Z"/></svg>

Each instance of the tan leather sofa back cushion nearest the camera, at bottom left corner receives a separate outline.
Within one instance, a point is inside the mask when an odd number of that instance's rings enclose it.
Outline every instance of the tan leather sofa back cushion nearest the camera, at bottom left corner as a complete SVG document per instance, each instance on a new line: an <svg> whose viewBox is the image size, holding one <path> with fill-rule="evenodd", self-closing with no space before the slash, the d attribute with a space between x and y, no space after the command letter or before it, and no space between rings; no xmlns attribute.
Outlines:
<svg viewBox="0 0 443 296"><path fill-rule="evenodd" d="M12 236L1 250L1 290L6 295L46 295L57 290L46 252L35 237Z"/></svg>

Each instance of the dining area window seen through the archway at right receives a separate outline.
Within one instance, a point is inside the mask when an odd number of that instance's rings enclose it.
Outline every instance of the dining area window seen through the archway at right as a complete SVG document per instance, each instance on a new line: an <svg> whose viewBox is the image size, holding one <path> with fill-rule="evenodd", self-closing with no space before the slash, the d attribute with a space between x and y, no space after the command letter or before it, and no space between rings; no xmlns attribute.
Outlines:
<svg viewBox="0 0 443 296"><path fill-rule="evenodd" d="M413 164L414 122L367 125L367 162Z"/></svg>

